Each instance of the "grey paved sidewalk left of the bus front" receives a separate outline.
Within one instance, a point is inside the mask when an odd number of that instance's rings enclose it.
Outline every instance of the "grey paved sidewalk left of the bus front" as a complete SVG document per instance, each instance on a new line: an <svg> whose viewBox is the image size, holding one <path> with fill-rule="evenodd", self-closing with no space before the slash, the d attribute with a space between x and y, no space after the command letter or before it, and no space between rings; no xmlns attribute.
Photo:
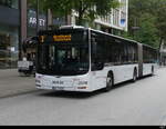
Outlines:
<svg viewBox="0 0 166 129"><path fill-rule="evenodd" d="M38 91L34 77L20 77L17 69L0 70L0 98Z"/></svg>

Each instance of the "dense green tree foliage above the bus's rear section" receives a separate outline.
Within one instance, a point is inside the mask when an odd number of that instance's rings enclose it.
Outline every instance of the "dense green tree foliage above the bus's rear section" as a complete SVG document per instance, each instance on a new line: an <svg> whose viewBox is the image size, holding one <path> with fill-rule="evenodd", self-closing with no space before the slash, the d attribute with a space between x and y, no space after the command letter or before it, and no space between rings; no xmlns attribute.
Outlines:
<svg viewBox="0 0 166 129"><path fill-rule="evenodd" d="M166 39L165 12L165 0L129 0L129 32L125 37L158 48Z"/></svg>

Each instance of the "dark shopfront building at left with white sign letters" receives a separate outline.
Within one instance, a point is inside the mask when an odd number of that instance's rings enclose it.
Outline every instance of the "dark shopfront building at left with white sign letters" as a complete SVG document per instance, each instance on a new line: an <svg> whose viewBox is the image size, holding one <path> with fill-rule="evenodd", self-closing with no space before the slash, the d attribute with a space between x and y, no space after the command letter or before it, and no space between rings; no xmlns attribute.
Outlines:
<svg viewBox="0 0 166 129"><path fill-rule="evenodd" d="M39 29L46 29L46 14L40 13ZM37 11L29 0L0 1L0 69L17 68L22 42L37 34Z"/></svg>

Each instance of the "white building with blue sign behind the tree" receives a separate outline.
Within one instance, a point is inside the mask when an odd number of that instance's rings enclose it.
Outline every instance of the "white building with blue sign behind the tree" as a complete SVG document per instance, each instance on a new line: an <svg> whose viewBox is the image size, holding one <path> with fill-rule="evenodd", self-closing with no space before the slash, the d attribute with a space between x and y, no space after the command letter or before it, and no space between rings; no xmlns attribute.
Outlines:
<svg viewBox="0 0 166 129"><path fill-rule="evenodd" d="M118 0L121 7L112 9L112 13L105 18L95 19L95 29L117 34L120 31L128 30L128 0ZM77 14L74 12L71 16L71 24L76 23ZM89 24L85 24L89 27Z"/></svg>

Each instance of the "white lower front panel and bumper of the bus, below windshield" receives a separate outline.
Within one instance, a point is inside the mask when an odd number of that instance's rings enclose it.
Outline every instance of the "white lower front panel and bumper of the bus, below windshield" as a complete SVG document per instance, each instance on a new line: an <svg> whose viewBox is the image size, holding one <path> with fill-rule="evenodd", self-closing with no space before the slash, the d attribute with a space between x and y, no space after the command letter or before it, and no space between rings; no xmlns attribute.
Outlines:
<svg viewBox="0 0 166 129"><path fill-rule="evenodd" d="M89 75L61 78L35 75L35 86L43 90L92 92L90 85Z"/></svg>

